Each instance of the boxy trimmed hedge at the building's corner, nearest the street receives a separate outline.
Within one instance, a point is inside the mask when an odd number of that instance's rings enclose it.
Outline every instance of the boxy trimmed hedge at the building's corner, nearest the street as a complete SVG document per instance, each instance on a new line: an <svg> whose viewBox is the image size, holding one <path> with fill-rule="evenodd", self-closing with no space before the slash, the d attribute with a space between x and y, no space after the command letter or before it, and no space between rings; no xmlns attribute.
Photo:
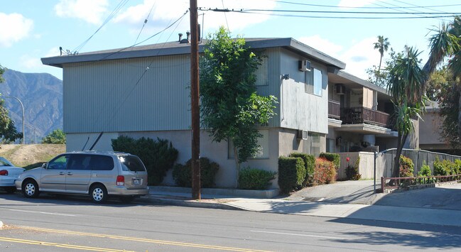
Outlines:
<svg viewBox="0 0 461 252"><path fill-rule="evenodd" d="M278 186L282 193L291 192L303 186L305 165L302 158L278 158Z"/></svg>

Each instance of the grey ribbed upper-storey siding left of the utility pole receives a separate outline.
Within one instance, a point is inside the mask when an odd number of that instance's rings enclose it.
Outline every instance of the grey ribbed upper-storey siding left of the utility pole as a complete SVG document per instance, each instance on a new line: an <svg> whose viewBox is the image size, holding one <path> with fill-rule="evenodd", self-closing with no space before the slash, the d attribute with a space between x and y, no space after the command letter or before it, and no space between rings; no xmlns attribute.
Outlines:
<svg viewBox="0 0 461 252"><path fill-rule="evenodd" d="M63 68L67 133L181 130L190 126L187 55Z"/></svg>

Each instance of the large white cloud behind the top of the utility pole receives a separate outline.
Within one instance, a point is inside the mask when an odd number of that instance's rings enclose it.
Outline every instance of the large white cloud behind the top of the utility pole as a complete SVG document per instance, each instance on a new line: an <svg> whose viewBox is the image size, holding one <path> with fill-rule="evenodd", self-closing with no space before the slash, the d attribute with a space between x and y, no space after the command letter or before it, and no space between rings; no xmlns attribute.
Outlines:
<svg viewBox="0 0 461 252"><path fill-rule="evenodd" d="M174 8L172 8L174 6ZM144 0L142 4L131 6L123 13L120 13L114 21L116 23L124 23L131 26L132 33L139 33L144 20L147 18L149 11L152 8L151 15L148 18L146 27L143 31L159 31L166 28L171 22L178 19L189 9L190 2L185 0ZM274 9L275 1L270 0L199 0L197 6L205 9ZM223 7L224 6L224 7ZM199 23L202 23L202 18L205 21L205 29L207 31L215 31L219 26L227 27L232 32L241 31L243 28L262 23L269 19L269 16L259 14L245 14L235 12L215 12L215 11L199 11L200 14L205 13L205 16L199 16ZM176 29L179 32L190 30L189 14L181 21L180 26Z"/></svg>

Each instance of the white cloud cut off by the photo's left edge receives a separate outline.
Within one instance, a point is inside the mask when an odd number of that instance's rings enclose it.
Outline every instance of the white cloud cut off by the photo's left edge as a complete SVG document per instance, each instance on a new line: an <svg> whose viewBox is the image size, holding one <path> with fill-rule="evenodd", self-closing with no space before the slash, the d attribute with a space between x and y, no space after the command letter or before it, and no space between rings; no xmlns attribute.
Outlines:
<svg viewBox="0 0 461 252"><path fill-rule="evenodd" d="M0 46L10 47L13 43L27 38L33 28L33 21L18 13L0 13Z"/></svg>

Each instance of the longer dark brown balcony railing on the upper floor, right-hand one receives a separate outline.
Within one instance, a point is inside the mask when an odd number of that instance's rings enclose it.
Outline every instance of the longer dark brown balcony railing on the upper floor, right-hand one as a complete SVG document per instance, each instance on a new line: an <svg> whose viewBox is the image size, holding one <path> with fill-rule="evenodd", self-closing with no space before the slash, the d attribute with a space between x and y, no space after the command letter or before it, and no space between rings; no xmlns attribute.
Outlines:
<svg viewBox="0 0 461 252"><path fill-rule="evenodd" d="M363 106L353 106L340 110L342 124L371 124L390 128L389 114L384 112L368 109ZM328 114L330 114L330 111L328 111Z"/></svg>

